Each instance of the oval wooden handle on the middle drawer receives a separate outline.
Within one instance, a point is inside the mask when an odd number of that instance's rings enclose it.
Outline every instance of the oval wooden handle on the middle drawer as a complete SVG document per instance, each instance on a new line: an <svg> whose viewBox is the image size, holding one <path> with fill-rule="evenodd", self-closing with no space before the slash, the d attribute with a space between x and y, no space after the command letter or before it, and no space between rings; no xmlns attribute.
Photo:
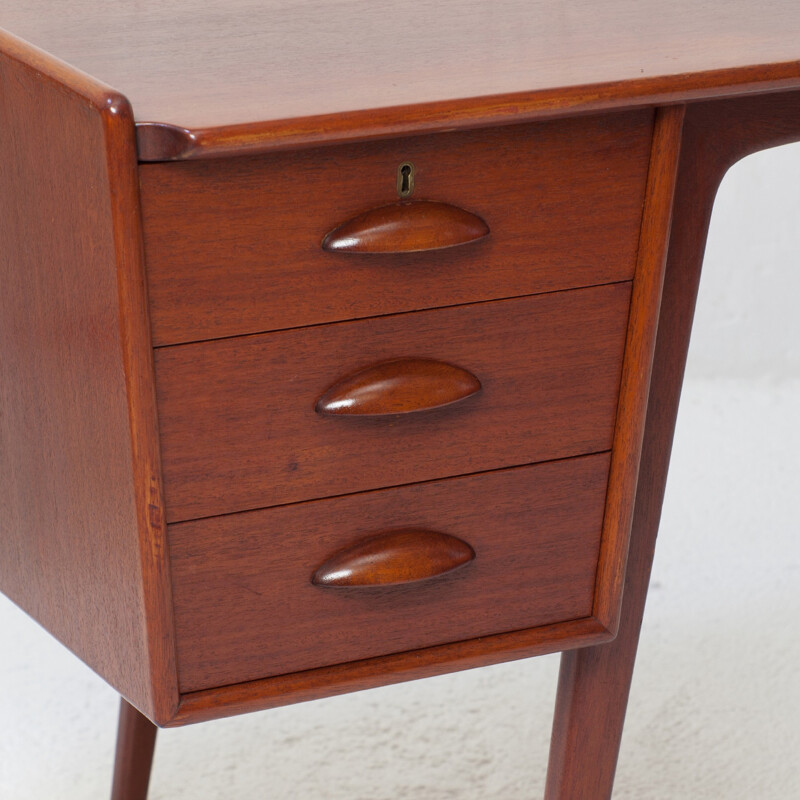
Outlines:
<svg viewBox="0 0 800 800"><path fill-rule="evenodd" d="M429 358L382 361L337 381L317 400L318 414L382 416L441 408L475 394L471 373Z"/></svg>

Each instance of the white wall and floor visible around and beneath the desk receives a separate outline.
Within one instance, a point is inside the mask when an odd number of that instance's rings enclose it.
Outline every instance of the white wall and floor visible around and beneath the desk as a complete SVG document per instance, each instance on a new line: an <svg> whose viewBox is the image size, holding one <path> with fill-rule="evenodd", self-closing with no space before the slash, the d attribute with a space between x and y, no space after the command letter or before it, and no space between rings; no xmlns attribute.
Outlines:
<svg viewBox="0 0 800 800"><path fill-rule="evenodd" d="M800 798L800 146L715 207L615 798ZM103 798L116 697L0 601L0 797ZM541 796L557 657L159 735L152 800Z"/></svg>

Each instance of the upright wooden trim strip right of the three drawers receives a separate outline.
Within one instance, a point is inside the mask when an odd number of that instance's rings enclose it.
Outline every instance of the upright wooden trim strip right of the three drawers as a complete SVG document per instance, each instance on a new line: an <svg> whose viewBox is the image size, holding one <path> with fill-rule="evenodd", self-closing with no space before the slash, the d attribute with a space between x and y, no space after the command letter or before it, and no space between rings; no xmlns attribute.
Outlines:
<svg viewBox="0 0 800 800"><path fill-rule="evenodd" d="M660 109L653 133L603 521L603 547L597 567L594 615L612 631L619 624L683 117L683 106Z"/></svg>

